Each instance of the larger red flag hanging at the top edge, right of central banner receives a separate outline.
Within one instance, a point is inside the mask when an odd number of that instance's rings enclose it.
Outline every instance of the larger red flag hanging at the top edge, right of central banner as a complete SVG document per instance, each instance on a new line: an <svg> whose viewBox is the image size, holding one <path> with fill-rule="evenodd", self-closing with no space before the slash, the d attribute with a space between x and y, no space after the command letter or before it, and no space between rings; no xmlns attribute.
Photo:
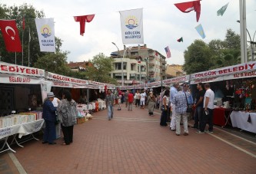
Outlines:
<svg viewBox="0 0 256 174"><path fill-rule="evenodd" d="M182 12L188 13L192 10L194 10L197 13L197 21L199 21L200 14L201 14L201 4L200 1L194 1L194 2L181 2L175 4L175 6Z"/></svg>

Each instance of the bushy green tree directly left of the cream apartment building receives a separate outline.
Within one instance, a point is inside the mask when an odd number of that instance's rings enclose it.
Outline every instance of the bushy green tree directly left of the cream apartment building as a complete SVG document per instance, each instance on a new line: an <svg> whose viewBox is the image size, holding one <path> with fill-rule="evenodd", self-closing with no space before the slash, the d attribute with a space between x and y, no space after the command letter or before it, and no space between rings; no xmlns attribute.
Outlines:
<svg viewBox="0 0 256 174"><path fill-rule="evenodd" d="M99 53L91 60L92 67L88 67L85 72L89 80L105 82L109 84L117 84L117 81L109 76L113 71L112 64L114 60L111 57L106 57L105 54Z"/></svg>

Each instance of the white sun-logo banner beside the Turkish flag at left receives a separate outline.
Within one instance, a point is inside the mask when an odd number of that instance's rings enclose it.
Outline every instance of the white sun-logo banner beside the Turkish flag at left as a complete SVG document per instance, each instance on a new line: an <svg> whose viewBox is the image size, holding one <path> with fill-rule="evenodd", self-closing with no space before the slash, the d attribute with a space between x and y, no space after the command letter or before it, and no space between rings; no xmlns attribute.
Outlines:
<svg viewBox="0 0 256 174"><path fill-rule="evenodd" d="M40 51L55 52L55 25L53 18L35 18Z"/></svg>

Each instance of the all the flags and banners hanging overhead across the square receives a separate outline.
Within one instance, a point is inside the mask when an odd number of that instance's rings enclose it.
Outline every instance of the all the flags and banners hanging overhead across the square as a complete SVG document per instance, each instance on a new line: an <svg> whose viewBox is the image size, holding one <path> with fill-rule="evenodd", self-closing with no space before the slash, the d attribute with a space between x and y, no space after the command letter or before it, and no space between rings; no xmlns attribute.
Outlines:
<svg viewBox="0 0 256 174"><path fill-rule="evenodd" d="M229 2L228 2L229 4ZM217 15L224 15L228 8L228 4L222 6ZM196 21L199 21L201 15L200 0L192 2L181 2L174 4L180 11L188 13L190 11L196 12ZM144 44L143 37L143 18L142 8L135 10L119 11L121 19L121 32L123 44ZM91 22L95 15L81 15L74 16L76 22L80 24L80 34L85 34L85 23ZM55 52L55 27L53 18L38 18L35 19L35 24L38 32L38 41L40 51ZM25 17L22 18L22 28L25 30ZM5 47L10 52L22 52L22 44L18 34L18 28L15 20L0 20L0 29L5 40ZM30 29L30 28L29 28ZM205 33L202 25L195 27L201 38L205 38ZM30 33L29 33L30 41ZM183 42L183 38L178 38L178 42ZM165 48L167 57L171 57L171 51L167 46Z"/></svg>

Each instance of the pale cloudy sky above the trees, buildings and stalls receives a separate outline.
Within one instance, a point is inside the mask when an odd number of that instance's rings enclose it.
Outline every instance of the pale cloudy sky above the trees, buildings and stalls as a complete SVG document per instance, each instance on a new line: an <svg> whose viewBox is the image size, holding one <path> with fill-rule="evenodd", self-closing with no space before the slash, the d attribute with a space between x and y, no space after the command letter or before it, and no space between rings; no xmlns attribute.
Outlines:
<svg viewBox="0 0 256 174"><path fill-rule="evenodd" d="M55 36L63 40L62 51L70 51L68 62L88 61L99 53L109 56L112 51L117 51L111 42L115 42L122 50L124 45L121 40L119 11L136 8L143 8L144 44L165 56L164 48L168 46L171 58L167 59L167 64L184 64L184 51L196 39L206 43L214 39L223 41L229 28L240 34L240 25L237 22L240 18L238 0L202 0L198 22L194 11L183 13L175 7L174 4L179 2L189 0L1 0L0 3L8 6L27 3L37 10L44 11L45 18L54 18ZM228 2L224 15L217 16L218 9ZM79 23L75 22L73 16L91 14L95 14L95 18L86 23L85 34L81 36ZM253 38L256 31L255 0L246 1L246 15L247 28ZM194 29L199 24L204 28L204 39ZM177 41L181 37L184 42Z"/></svg>

